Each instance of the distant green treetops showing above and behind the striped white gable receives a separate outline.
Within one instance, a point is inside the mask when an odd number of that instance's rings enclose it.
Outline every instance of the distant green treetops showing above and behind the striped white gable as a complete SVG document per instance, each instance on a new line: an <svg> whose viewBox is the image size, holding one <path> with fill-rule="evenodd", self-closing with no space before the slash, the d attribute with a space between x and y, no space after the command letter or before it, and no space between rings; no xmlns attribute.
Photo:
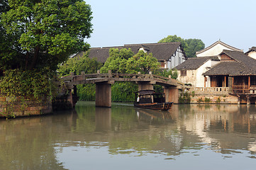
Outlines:
<svg viewBox="0 0 256 170"><path fill-rule="evenodd" d="M187 57L196 57L196 52L204 49L205 45L199 39L183 39L177 35L169 35L167 38L162 38L159 42L181 42L181 45Z"/></svg>

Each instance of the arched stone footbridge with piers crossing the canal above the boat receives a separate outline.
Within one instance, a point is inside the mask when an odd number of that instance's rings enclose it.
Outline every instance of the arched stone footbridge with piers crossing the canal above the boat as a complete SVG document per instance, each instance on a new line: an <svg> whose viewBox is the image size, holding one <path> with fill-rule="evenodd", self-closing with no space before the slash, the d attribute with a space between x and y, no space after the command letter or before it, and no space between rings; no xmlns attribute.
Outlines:
<svg viewBox="0 0 256 170"><path fill-rule="evenodd" d="M96 106L111 107L111 84L115 81L133 81L138 84L138 91L152 90L154 84L163 86L167 102L178 103L179 93L184 84L179 81L167 77L161 77L154 74L116 74L108 72L108 74L71 74L62 77L67 89L69 90L69 101L74 106L74 96L77 96L76 85L78 84L96 84ZM72 90L74 91L72 94Z"/></svg>

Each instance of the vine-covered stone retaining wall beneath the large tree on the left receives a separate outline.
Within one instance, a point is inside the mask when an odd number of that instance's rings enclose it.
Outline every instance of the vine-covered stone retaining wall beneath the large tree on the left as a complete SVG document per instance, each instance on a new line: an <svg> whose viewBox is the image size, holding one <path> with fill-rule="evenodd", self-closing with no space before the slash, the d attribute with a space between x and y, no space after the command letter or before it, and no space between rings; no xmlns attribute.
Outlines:
<svg viewBox="0 0 256 170"><path fill-rule="evenodd" d="M28 98L0 96L0 118L49 113L52 113L52 102L50 98L43 98L36 101Z"/></svg>

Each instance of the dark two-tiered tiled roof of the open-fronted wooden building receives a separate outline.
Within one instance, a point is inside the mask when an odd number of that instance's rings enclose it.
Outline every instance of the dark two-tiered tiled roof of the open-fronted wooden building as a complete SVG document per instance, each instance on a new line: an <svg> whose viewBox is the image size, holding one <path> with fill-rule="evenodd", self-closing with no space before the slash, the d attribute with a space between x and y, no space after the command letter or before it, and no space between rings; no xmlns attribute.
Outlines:
<svg viewBox="0 0 256 170"><path fill-rule="evenodd" d="M233 58L233 62L220 62L213 68L205 72L205 76L213 75L230 75L230 76L245 76L256 75L256 60L245 55L243 52L223 50L221 55L226 54Z"/></svg>

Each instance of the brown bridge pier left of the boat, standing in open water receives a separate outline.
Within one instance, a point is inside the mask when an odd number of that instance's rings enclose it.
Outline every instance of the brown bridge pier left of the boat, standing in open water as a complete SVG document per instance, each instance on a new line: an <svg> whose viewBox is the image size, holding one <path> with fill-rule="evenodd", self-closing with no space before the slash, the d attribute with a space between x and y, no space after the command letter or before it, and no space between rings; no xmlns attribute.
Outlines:
<svg viewBox="0 0 256 170"><path fill-rule="evenodd" d="M95 106L111 108L111 83L96 83Z"/></svg>

